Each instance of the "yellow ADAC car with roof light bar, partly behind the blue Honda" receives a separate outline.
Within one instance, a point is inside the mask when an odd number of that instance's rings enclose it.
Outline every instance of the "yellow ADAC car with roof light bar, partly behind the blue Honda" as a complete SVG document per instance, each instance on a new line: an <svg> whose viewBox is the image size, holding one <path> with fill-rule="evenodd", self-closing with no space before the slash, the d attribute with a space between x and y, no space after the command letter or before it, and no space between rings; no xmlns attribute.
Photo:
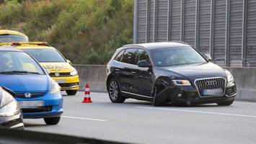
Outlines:
<svg viewBox="0 0 256 144"><path fill-rule="evenodd" d="M48 70L50 77L61 86L61 91L66 91L68 95L76 94L79 89L79 76L76 69L47 42L7 42L0 45L12 45L29 53Z"/></svg>

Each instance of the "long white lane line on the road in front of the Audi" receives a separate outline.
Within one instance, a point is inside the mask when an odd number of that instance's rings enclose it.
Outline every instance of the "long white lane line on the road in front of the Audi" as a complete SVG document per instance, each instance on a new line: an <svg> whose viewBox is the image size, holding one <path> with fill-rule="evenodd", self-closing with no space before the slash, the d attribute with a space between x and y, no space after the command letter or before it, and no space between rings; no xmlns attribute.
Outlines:
<svg viewBox="0 0 256 144"><path fill-rule="evenodd" d="M201 113L201 114L219 114L219 115L227 115L227 116L256 118L255 115L228 114L228 113L221 113L221 112L203 112L203 111L195 111L195 110L167 109L167 108L156 108L156 107L138 107L138 108L142 108L142 109L160 109L160 110L169 110L169 111L177 111L177 112L195 112L195 113Z"/></svg>

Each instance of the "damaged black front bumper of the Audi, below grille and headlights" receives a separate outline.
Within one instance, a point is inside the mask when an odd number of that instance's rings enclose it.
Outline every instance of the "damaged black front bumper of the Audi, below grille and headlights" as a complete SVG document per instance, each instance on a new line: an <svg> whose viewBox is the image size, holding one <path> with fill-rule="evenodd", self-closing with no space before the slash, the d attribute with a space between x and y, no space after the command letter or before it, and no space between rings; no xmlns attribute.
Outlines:
<svg viewBox="0 0 256 144"><path fill-rule="evenodd" d="M210 104L234 100L237 96L237 87L234 81L226 86L222 96L200 96L195 86L169 86L154 96L152 104L159 106L171 102L172 104Z"/></svg>

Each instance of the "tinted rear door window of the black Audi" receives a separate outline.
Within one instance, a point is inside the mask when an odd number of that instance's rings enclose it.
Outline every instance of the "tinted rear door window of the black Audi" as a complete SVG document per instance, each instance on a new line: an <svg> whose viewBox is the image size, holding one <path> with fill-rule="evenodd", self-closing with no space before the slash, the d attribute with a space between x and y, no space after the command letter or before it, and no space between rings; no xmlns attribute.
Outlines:
<svg viewBox="0 0 256 144"><path fill-rule="evenodd" d="M123 63L129 63L135 65L135 59L136 59L136 53L137 48L128 48L125 50L125 53L123 53L122 62Z"/></svg>

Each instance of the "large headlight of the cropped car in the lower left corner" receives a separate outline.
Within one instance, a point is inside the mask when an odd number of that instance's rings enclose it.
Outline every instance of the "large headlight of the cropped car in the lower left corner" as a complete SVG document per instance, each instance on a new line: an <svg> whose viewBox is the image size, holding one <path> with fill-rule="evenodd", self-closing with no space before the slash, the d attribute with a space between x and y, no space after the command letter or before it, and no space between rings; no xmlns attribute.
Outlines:
<svg viewBox="0 0 256 144"><path fill-rule="evenodd" d="M1 89L0 89L1 90ZM19 112L19 106L16 100L6 91L0 92L0 116L12 116Z"/></svg>

